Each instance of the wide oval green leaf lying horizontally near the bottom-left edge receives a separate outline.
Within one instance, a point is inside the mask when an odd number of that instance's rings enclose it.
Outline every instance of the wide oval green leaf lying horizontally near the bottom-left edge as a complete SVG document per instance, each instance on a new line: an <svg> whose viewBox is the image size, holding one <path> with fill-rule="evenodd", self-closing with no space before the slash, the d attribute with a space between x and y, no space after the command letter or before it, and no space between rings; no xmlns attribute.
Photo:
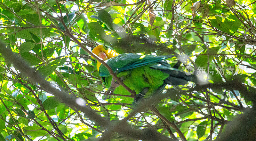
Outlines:
<svg viewBox="0 0 256 141"><path fill-rule="evenodd" d="M23 130L26 135L32 136L32 137L41 137L47 134L46 131L42 130L42 128L37 125L27 126Z"/></svg>

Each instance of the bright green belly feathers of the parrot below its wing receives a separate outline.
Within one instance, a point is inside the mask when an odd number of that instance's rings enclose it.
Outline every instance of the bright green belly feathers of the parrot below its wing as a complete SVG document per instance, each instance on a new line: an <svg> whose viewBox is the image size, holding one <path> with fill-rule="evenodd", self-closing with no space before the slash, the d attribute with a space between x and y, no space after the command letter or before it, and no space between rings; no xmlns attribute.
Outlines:
<svg viewBox="0 0 256 141"><path fill-rule="evenodd" d="M152 95L157 88L159 88L164 83L164 79L166 79L169 74L163 73L162 71L151 69L148 66L142 66L133 68L127 71L123 71L117 74L117 77L123 77L124 84L130 89L134 90L136 94L143 91L144 88L149 88L146 96ZM107 81L105 86L110 87L112 76L107 77ZM131 95L123 86L118 86L114 94L121 95ZM123 100L133 101L133 98L123 97Z"/></svg>

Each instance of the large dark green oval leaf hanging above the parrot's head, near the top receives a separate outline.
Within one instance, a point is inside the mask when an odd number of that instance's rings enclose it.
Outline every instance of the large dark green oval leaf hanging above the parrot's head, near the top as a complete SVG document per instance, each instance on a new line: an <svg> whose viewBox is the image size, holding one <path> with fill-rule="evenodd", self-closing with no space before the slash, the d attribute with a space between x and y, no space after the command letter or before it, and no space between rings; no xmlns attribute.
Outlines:
<svg viewBox="0 0 256 141"><path fill-rule="evenodd" d="M108 29L110 29L111 31L114 31L113 28L113 20L110 16L110 14L105 11L105 10L101 10L98 14L98 18L100 21L102 21L105 25L107 25Z"/></svg>

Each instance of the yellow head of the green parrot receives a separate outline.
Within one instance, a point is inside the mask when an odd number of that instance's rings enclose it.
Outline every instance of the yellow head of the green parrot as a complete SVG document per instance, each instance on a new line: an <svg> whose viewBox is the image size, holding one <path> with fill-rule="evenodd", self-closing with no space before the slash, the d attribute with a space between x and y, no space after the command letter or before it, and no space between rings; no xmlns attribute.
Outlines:
<svg viewBox="0 0 256 141"><path fill-rule="evenodd" d="M110 48L107 48L103 45L99 45L93 48L92 53L96 54L97 56L99 56L101 59L103 60L108 60L109 58L115 57L117 55L119 55L119 53L116 53L115 50L112 50ZM94 59L94 57L91 57L92 59ZM101 63L97 60L97 70L99 71Z"/></svg>

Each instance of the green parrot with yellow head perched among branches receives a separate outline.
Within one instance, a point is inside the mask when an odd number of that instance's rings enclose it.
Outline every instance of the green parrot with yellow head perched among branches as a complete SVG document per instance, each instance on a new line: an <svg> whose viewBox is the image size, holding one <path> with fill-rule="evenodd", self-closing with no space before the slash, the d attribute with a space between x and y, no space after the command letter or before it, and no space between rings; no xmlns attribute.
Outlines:
<svg viewBox="0 0 256 141"><path fill-rule="evenodd" d="M195 75L171 67L166 59L173 55L155 56L135 53L117 53L114 49L99 45L92 49L92 53L104 60L111 67L116 76L136 93L132 104L138 104L142 98L156 93L162 93L166 84L185 85L188 81L195 81ZM91 56L93 67L99 72L100 81L113 94L131 95L123 86L118 84L108 69ZM122 98L123 100L125 97ZM131 100L128 100L131 101Z"/></svg>

